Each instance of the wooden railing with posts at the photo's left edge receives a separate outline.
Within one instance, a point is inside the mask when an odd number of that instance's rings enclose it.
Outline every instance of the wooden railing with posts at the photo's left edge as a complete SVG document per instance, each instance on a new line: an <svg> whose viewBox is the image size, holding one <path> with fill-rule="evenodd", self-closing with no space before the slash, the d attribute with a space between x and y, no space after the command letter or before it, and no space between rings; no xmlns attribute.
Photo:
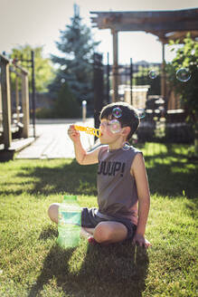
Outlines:
<svg viewBox="0 0 198 297"><path fill-rule="evenodd" d="M14 85L11 73L14 76ZM15 89L14 102L11 98L13 88ZM11 146L13 134L19 129L21 129L22 138L29 137L28 72L20 65L11 65L11 62L0 54L0 138L5 149Z"/></svg>

